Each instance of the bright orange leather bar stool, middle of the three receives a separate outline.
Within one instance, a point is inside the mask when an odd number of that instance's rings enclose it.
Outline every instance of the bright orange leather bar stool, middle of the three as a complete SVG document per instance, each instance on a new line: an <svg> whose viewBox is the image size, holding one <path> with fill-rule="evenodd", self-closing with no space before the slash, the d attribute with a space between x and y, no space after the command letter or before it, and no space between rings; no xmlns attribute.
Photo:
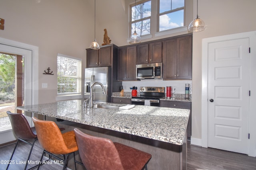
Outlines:
<svg viewBox="0 0 256 170"><path fill-rule="evenodd" d="M62 134L54 121L43 121L37 119L36 117L32 117L32 119L36 127L38 141L44 149L40 162L42 162L44 154L47 153L58 160L64 161L64 170L67 167L68 156L73 154L75 168L76 163L83 165L82 163L76 161L75 158L75 152L78 150L78 147L76 144L74 131L69 131ZM54 154L60 154L64 157L64 159ZM40 168L40 165L41 164L39 164L38 169Z"/></svg>

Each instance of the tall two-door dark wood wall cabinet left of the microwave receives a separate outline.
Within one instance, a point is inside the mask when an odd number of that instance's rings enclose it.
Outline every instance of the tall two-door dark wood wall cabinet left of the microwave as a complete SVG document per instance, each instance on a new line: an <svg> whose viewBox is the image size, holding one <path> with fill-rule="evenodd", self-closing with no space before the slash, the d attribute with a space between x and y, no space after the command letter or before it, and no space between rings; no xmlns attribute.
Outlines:
<svg viewBox="0 0 256 170"><path fill-rule="evenodd" d="M136 80L136 46L118 49L118 81Z"/></svg>

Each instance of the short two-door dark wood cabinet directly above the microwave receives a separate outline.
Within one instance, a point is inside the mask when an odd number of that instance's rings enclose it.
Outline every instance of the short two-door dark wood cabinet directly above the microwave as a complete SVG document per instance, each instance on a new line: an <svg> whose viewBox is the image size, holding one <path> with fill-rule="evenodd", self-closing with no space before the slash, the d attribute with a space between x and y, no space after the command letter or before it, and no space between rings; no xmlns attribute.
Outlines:
<svg viewBox="0 0 256 170"><path fill-rule="evenodd" d="M162 41L137 45L136 64L161 63Z"/></svg>

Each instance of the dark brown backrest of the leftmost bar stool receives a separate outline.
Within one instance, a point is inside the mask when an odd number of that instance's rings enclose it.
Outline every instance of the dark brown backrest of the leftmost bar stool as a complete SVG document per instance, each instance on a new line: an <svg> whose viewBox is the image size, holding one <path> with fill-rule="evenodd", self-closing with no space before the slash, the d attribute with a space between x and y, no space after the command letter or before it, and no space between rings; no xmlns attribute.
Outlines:
<svg viewBox="0 0 256 170"><path fill-rule="evenodd" d="M21 113L11 113L10 111L7 111L7 115L12 124L12 130L18 138L25 140L36 138L36 134L32 132L24 115Z"/></svg>

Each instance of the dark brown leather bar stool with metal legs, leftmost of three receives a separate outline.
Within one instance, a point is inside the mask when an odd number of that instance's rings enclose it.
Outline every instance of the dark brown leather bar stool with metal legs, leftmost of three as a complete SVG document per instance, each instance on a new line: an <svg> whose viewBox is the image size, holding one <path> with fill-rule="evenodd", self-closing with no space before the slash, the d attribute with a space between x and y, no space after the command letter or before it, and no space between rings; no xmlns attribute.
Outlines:
<svg viewBox="0 0 256 170"><path fill-rule="evenodd" d="M28 160L30 158L32 149L34 147L34 143L37 140L36 129L35 129L35 127L29 126L27 119L21 113L12 113L10 111L7 111L6 113L10 119L10 122L12 125L12 131L18 137L16 145L12 152L12 156L14 155L14 152L16 150L16 147L17 147L19 141L22 141L31 146L30 152L28 154L28 159L26 161L26 165L24 168L24 170L26 170L26 168L28 166ZM29 143L27 140L33 140L33 141L32 141L32 143ZM10 160L12 160L12 156L11 156ZM6 170L9 168L9 165L10 164L7 165ZM36 166L34 166L34 167L36 167ZM34 168L34 167L32 167L32 168ZM30 168L30 169L32 169L32 168Z"/></svg>

